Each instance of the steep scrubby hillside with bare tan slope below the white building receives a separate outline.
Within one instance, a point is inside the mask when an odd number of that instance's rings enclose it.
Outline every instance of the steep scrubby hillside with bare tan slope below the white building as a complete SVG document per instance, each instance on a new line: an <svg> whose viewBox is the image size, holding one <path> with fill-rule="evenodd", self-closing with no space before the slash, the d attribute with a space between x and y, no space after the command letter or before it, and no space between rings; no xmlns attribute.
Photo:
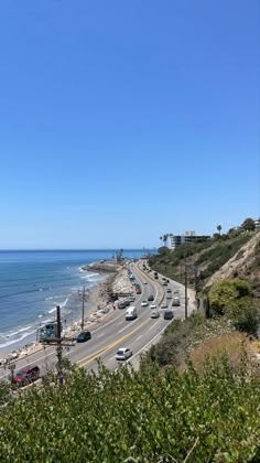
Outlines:
<svg viewBox="0 0 260 463"><path fill-rule="evenodd" d="M234 236L235 235L235 236ZM198 291L224 278L247 280L256 298L260 298L260 230L215 236L208 241L194 241L174 251L162 247L150 258L150 267Z"/></svg>

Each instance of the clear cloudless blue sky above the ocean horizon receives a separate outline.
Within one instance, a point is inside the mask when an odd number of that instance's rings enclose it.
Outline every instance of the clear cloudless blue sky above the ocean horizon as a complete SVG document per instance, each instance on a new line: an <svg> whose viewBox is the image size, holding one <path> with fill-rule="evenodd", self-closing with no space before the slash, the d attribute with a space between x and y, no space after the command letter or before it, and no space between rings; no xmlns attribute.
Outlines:
<svg viewBox="0 0 260 463"><path fill-rule="evenodd" d="M260 213L258 0L0 4L0 248L136 248Z"/></svg>

